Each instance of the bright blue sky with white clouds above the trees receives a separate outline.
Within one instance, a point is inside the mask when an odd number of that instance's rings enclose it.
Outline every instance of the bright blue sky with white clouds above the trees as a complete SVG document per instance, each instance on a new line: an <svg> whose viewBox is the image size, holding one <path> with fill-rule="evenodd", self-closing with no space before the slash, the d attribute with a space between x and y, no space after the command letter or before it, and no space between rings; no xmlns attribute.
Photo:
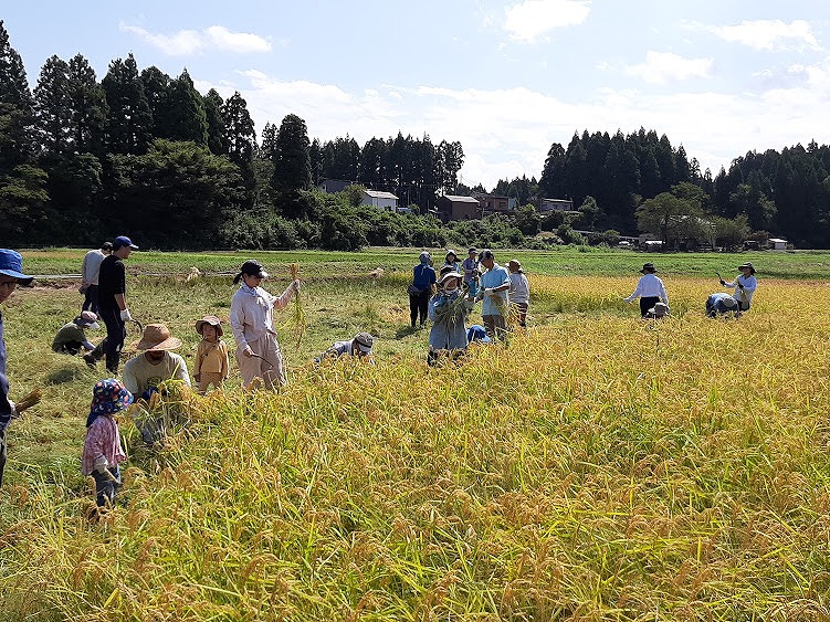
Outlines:
<svg viewBox="0 0 830 622"><path fill-rule="evenodd" d="M239 91L258 131L293 113L322 140L460 140L463 181L487 189L538 178L585 129L654 129L713 175L830 143L819 0L33 0L0 19L32 85L52 54L101 80L133 52L202 94Z"/></svg>

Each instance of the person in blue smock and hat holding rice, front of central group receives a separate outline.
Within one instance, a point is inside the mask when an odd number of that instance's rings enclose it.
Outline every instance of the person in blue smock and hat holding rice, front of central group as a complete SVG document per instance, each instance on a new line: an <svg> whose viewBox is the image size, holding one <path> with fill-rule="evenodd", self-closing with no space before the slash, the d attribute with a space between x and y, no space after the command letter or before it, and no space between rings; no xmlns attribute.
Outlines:
<svg viewBox="0 0 830 622"><path fill-rule="evenodd" d="M463 305L462 278L460 272L448 272L438 282L438 293L430 299L429 317L432 327L430 351L427 355L429 365L435 365L444 354L454 360L466 350L466 308Z"/></svg>

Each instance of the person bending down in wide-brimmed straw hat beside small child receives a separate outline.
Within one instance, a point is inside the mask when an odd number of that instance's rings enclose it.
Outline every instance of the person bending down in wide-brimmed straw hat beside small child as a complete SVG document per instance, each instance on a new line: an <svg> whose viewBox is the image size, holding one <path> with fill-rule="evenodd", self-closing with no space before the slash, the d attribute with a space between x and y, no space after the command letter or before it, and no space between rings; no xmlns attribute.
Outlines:
<svg viewBox="0 0 830 622"><path fill-rule="evenodd" d="M124 363L124 386L130 393L148 399L166 380L181 380L190 387L185 359L170 351L181 347L181 339L170 335L167 326L148 324L133 347L140 354Z"/></svg>

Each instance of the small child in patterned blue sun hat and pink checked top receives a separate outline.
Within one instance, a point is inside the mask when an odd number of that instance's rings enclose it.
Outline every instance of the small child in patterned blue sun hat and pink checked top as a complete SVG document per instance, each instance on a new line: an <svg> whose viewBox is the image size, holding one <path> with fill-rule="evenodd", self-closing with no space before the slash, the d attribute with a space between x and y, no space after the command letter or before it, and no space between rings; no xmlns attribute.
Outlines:
<svg viewBox="0 0 830 622"><path fill-rule="evenodd" d="M92 390L92 405L86 418L86 439L81 455L81 474L95 479L98 507L111 506L120 488L118 465L127 460L115 413L133 403L133 393L115 378L98 380Z"/></svg>

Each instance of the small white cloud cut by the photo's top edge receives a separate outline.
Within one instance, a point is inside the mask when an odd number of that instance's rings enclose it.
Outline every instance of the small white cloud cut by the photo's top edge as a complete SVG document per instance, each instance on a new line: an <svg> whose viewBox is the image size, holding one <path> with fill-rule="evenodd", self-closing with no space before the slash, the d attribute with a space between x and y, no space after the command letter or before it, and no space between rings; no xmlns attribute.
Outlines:
<svg viewBox="0 0 830 622"><path fill-rule="evenodd" d="M590 10L589 0L525 0L505 8L504 28L511 39L532 43L556 28L582 23Z"/></svg>

